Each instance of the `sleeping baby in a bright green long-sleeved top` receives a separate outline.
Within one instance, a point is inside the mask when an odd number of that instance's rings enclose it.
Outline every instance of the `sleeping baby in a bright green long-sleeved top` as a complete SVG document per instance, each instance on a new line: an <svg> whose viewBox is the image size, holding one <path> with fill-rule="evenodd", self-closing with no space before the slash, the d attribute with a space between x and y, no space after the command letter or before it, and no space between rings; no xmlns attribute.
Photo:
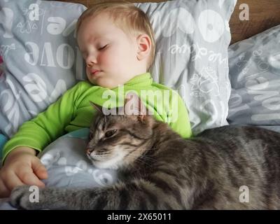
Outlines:
<svg viewBox="0 0 280 224"><path fill-rule="evenodd" d="M141 97L146 91L141 99L155 118L168 123L181 137L191 136L188 112L179 94L153 83L147 72L155 56L155 41L143 11L124 1L97 3L80 16L77 41L88 81L67 90L48 109L22 124L7 142L0 170L0 197L8 197L15 186L43 187L41 180L47 179L48 173L36 154L66 132L89 127L97 112L90 101L109 108L108 95L116 96L111 107L123 106L126 92L133 90ZM164 92L167 98L162 97Z"/></svg>

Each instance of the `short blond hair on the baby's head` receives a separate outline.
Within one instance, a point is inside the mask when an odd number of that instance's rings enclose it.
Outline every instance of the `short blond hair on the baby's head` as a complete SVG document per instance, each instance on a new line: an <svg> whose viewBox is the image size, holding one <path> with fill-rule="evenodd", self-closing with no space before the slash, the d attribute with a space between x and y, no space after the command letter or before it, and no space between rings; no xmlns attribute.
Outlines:
<svg viewBox="0 0 280 224"><path fill-rule="evenodd" d="M153 64L155 58L155 37L153 28L146 13L128 1L105 1L94 3L87 8L78 18L76 31L86 18L94 18L100 13L108 13L115 24L126 34L136 35L139 32L147 34L151 38L151 53L148 59L148 68Z"/></svg>

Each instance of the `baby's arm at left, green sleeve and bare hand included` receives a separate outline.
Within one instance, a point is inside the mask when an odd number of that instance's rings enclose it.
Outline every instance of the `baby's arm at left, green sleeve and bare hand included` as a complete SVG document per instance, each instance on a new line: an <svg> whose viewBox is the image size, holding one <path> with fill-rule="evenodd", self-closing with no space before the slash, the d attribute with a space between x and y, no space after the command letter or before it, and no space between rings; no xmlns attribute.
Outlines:
<svg viewBox="0 0 280 224"><path fill-rule="evenodd" d="M6 197L15 186L43 186L47 178L45 167L36 157L51 141L64 134L75 113L75 96L79 86L71 88L48 109L22 124L3 148L3 167L0 170L0 197Z"/></svg>

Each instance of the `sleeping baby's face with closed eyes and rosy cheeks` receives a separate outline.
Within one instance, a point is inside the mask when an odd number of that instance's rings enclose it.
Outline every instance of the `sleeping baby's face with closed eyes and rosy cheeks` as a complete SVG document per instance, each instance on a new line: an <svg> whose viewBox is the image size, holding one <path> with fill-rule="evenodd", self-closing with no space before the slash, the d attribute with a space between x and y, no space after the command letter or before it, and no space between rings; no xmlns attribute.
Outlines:
<svg viewBox="0 0 280 224"><path fill-rule="evenodd" d="M87 65L87 78L95 85L118 87L146 72L137 59L137 37L125 34L106 13L86 18L77 39Z"/></svg>

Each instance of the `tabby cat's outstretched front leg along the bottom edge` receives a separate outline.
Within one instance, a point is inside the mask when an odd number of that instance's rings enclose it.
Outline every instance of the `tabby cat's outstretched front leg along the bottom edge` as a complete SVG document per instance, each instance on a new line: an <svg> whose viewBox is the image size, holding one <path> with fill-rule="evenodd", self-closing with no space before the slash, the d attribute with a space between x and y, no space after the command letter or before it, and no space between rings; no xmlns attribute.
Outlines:
<svg viewBox="0 0 280 224"><path fill-rule="evenodd" d="M176 197L144 179L119 182L107 188L40 188L38 202L29 186L13 190L10 202L21 209L185 209Z"/></svg>

